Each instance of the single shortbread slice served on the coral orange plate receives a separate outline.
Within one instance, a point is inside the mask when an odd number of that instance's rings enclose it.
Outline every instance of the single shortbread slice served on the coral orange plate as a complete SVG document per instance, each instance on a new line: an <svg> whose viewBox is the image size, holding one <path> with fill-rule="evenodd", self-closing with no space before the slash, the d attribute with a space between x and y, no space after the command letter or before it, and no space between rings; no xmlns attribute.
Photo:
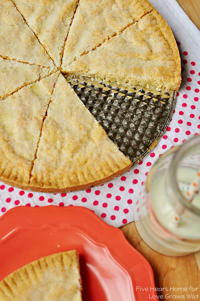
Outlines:
<svg viewBox="0 0 200 301"><path fill-rule="evenodd" d="M82 301L78 253L42 257L0 281L1 301Z"/></svg>

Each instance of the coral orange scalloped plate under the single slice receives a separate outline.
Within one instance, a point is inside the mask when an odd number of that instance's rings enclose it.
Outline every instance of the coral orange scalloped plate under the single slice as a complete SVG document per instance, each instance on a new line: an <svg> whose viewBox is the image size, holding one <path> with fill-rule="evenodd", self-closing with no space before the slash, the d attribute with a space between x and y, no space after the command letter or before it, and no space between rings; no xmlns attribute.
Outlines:
<svg viewBox="0 0 200 301"><path fill-rule="evenodd" d="M80 254L84 301L156 298L149 262L91 210L20 206L0 218L0 279L42 256L73 249Z"/></svg>

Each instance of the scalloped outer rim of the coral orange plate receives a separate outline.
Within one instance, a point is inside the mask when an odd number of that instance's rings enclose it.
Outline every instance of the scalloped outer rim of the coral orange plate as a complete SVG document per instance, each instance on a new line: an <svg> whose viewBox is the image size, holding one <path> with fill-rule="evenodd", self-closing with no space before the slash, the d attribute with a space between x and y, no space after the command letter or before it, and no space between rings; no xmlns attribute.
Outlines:
<svg viewBox="0 0 200 301"><path fill-rule="evenodd" d="M105 239L104 241L102 241L101 239L99 240L99 235L95 236L94 231L92 230L92 235L91 233L88 234L88 229L87 229L87 225L86 224L81 224L81 220L75 221L73 222L74 225L71 226L69 224L69 220L67 221L62 221L61 224L57 224L52 225L51 223L43 223L40 220L36 221L36 224L40 225L51 225L54 227L61 227L63 230L63 226L65 228L65 230L67 231L67 228L69 228L70 230L75 230L75 231L79 231L80 234L83 234L85 237L87 237L87 239L89 239L90 241L92 241L94 244L101 246L101 247L105 247L106 250L108 250L110 256L112 257L112 260L115 262L115 264L118 264L128 275L129 278L132 282L132 286L133 286L133 290L134 290L134 267L133 266L129 266L127 263L123 262L122 258L120 258L119 254L121 249L119 250L114 250L112 249L112 244L117 244L118 241L120 240L120 242L122 243L124 249L124 253L127 254L132 254L133 256L136 256L137 259L143 264L145 265L145 267L148 270L148 276L149 279L147 279L147 285L146 287L155 287L155 283L154 283L154 276L153 276L153 271L152 271L152 267L149 264L149 262L145 259L144 256L142 256L134 247L131 246L131 244L128 242L128 240L125 238L124 234L122 233L122 231L118 228L114 228L111 225L106 224L106 222L104 222L102 219L100 219L92 210L85 208L85 207L81 207L81 206L68 206L68 207L59 207L59 206L54 206L54 205L48 205L48 206L42 206L42 207L28 207L28 206L18 206L18 207L14 207L9 209L6 213L4 213L2 216L0 216L0 245L3 244L6 240L8 239L12 239L12 235L15 234L15 232L17 230L23 231L24 228L24 224L26 224L26 227L28 226L28 223L26 220L20 219L20 216L23 215L24 212L27 212L27 215L30 214L31 212L33 213L33 211L35 211L36 213L40 213L42 214L42 211L48 214L51 214L52 212L55 212L55 210L58 212L60 211L60 215L61 215L61 211L63 213L63 211L65 211L65 213L67 212L67 214L70 216L70 211L71 214L76 214L78 211L78 214L83 218L84 215L88 215L90 216L89 219L89 223L93 224L93 226L99 225L99 231L100 233L103 232L103 230L106 230L106 235L103 235L103 239ZM35 214L36 214L35 213ZM81 213L81 214L80 214ZM14 225L9 224L9 219L12 218L12 216L17 216L17 224L19 222L19 224L21 225L17 225L15 227L13 227ZM32 216L32 215L31 215ZM16 222L16 220L15 220ZM30 222L30 220L29 220ZM7 227L1 227L1 225L5 224L5 226ZM77 226L78 224L78 226ZM32 229L30 229L30 225L32 226ZM32 225L30 222L30 225L28 228L25 228L25 230L36 230L37 231L37 225ZM101 225L101 226L100 226ZM10 228L10 231L8 231L8 229ZM103 229L104 228L104 229ZM92 229L92 227L90 228ZM99 234L99 233L98 233ZM110 240L108 241L108 239L112 239L112 237L115 237L115 240L112 241L112 244L110 244ZM116 243L115 243L116 242ZM121 246L121 245L120 245ZM1 255L1 250L0 250L0 255ZM138 261L137 260L137 261ZM127 266L128 265L128 266ZM143 272L143 271L141 271ZM136 291L134 290L134 294L136 293ZM137 294L142 295L144 294L144 291L139 291L137 292ZM155 291L151 292L152 295L156 295ZM137 296L134 296L134 298ZM135 299L137 300L137 299ZM141 299L142 300L142 299Z"/></svg>

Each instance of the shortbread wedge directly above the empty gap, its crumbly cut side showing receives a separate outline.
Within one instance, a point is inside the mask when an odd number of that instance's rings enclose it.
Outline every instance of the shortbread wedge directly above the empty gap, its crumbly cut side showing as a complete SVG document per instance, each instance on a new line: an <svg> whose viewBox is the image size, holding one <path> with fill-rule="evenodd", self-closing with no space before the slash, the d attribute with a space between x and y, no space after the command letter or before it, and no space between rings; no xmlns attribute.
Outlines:
<svg viewBox="0 0 200 301"><path fill-rule="evenodd" d="M155 9L64 71L116 85L168 91L177 91L181 82L180 55L173 33Z"/></svg>

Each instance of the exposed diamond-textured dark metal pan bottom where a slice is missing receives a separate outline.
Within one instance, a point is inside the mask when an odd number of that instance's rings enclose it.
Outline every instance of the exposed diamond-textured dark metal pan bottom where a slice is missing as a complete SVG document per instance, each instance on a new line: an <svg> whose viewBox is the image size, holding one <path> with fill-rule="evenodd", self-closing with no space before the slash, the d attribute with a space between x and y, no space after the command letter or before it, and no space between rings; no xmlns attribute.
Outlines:
<svg viewBox="0 0 200 301"><path fill-rule="evenodd" d="M124 89L86 79L68 80L109 138L133 163L156 145L173 113L176 93Z"/></svg>

